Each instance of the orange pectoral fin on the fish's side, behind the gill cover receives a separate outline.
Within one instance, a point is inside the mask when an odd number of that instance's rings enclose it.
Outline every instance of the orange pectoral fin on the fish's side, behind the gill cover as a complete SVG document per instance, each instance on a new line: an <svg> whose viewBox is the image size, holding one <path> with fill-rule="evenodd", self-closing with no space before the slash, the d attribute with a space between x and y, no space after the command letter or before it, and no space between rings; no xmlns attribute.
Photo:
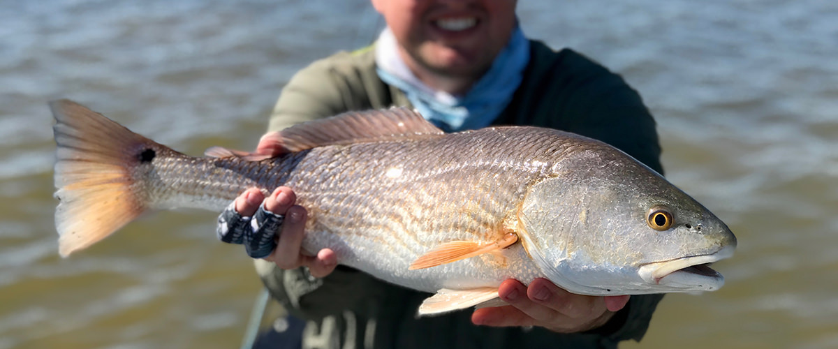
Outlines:
<svg viewBox="0 0 838 349"><path fill-rule="evenodd" d="M474 257L479 254L497 253L501 249L510 247L517 241L518 235L515 233L504 234L500 239L489 244L481 244L474 241L452 241L437 246L427 254L422 254L422 256L411 263L408 269L431 268L460 259Z"/></svg>

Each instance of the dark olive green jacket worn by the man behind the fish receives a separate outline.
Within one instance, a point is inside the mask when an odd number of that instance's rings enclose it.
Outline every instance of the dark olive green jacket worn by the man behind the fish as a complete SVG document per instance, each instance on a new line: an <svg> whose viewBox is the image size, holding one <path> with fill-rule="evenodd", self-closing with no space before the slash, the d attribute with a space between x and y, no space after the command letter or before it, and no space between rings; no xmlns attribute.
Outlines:
<svg viewBox="0 0 838 349"><path fill-rule="evenodd" d="M637 92L617 74L570 49L530 42L524 80L495 125L531 125L605 141L660 166L654 120ZM375 73L374 49L334 54L298 72L282 90L269 129L347 110L410 106L406 96ZM282 270L264 261L257 269L268 290L294 316L308 320L303 347L354 348L595 348L639 340L662 295L635 295L606 326L558 334L542 328L474 326L472 311L416 317L427 293L376 280L339 266L315 279L306 269Z"/></svg>

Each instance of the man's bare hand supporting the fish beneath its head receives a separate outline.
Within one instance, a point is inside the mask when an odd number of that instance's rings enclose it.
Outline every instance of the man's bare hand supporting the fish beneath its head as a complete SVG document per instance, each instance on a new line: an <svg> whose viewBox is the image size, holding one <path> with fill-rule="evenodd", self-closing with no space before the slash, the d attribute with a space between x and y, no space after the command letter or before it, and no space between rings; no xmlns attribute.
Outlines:
<svg viewBox="0 0 838 349"><path fill-rule="evenodd" d="M529 287L518 280L506 280L500 284L498 295L510 305L474 311L474 324L541 326L561 333L582 332L605 325L629 302L628 295L575 295L546 279L535 279Z"/></svg>

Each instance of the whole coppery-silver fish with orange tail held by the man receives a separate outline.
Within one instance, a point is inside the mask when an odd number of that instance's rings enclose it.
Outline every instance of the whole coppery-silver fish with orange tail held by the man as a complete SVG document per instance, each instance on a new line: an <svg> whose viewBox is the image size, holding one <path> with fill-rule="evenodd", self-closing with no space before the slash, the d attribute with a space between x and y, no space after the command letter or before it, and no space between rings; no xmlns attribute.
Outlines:
<svg viewBox="0 0 838 349"><path fill-rule="evenodd" d="M445 134L409 110L377 110L282 131L277 157L189 157L74 102L51 107L63 255L146 211L219 212L249 187L279 186L308 209L304 250L437 293L422 314L493 300L510 278L582 295L716 290L723 278L705 264L737 244L648 167L562 131Z"/></svg>

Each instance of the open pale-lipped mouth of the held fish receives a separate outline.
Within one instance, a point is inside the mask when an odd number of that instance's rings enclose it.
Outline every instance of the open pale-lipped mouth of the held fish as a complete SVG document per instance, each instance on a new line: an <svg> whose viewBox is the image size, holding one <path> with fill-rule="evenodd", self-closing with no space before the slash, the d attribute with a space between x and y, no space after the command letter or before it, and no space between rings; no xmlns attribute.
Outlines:
<svg viewBox="0 0 838 349"><path fill-rule="evenodd" d="M690 279L724 280L721 274L710 268L710 264L717 260L726 259L733 255L733 247L726 246L714 254L671 259L663 262L647 263L640 266L640 276L654 284L660 284L667 277L680 275Z"/></svg>

